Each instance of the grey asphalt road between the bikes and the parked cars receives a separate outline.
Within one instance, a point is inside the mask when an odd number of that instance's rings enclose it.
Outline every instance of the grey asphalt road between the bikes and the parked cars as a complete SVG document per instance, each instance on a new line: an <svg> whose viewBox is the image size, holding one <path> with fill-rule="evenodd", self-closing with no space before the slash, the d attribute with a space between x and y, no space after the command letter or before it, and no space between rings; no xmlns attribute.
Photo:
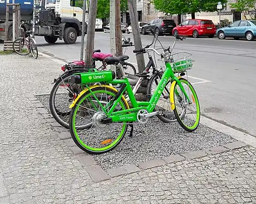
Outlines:
<svg viewBox="0 0 256 204"><path fill-rule="evenodd" d="M133 39L132 34L124 34ZM145 46L152 41L151 35L142 36ZM49 45L44 38L37 37L39 52L52 55L66 61L80 58L80 42L66 45L57 41ZM171 46L172 36L159 36L160 42ZM133 41L133 40L132 40ZM94 48L102 52L109 52L109 34L96 33ZM156 46L159 47L159 44ZM129 47L126 54L128 61L136 64ZM192 70L188 71L190 80L194 83L200 100L202 115L224 123L242 132L256 136L256 41L246 40L219 40L216 38L186 38L178 41L174 52L185 51L192 54L195 60ZM145 55L145 60L147 60Z"/></svg>

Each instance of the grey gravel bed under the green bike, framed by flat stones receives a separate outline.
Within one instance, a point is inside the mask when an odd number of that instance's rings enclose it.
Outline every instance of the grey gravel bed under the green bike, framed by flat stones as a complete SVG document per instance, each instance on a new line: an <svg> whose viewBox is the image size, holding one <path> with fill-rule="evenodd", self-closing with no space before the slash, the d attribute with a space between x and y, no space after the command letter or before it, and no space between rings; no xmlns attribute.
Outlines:
<svg viewBox="0 0 256 204"><path fill-rule="evenodd" d="M49 109L49 96L37 96L45 108ZM133 137L129 137L130 127L121 143L112 151L93 155L103 169L112 169L131 163L138 164L152 159L202 150L236 141L230 135L207 126L200 125L192 133L186 132L177 123L164 123L151 118L148 123L134 123Z"/></svg>

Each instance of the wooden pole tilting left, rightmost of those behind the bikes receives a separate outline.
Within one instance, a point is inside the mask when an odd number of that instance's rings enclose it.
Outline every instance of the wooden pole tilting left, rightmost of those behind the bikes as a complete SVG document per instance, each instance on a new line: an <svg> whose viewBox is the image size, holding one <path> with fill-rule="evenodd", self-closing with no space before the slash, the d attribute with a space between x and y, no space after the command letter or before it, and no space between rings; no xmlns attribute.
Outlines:
<svg viewBox="0 0 256 204"><path fill-rule="evenodd" d="M140 49L142 48L141 37L140 37L140 29L138 24L138 15L135 7L136 0L128 0L128 8L130 14L130 24L133 30L133 39L134 39L134 48ZM137 64L139 72L143 72L145 69L145 60L143 54L137 54Z"/></svg>

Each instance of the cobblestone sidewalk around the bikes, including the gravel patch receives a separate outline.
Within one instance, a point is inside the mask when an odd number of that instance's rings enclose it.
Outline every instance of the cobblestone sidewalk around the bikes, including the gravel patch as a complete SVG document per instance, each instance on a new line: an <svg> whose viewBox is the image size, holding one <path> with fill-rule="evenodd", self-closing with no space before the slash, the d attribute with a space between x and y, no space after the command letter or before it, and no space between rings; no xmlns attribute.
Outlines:
<svg viewBox="0 0 256 204"><path fill-rule="evenodd" d="M155 133L137 132L88 156L37 96L50 94L61 65L0 55L0 67L0 204L256 203L254 147L203 125L197 134L171 125L169 143L152 145Z"/></svg>

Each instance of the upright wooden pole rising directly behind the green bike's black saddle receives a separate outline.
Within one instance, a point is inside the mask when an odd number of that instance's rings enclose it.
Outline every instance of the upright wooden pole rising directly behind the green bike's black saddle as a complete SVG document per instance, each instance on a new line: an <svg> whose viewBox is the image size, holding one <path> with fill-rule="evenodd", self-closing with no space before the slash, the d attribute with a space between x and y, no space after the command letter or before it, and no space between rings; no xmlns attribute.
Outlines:
<svg viewBox="0 0 256 204"><path fill-rule="evenodd" d="M120 0L115 0L116 56L123 55Z"/></svg>

